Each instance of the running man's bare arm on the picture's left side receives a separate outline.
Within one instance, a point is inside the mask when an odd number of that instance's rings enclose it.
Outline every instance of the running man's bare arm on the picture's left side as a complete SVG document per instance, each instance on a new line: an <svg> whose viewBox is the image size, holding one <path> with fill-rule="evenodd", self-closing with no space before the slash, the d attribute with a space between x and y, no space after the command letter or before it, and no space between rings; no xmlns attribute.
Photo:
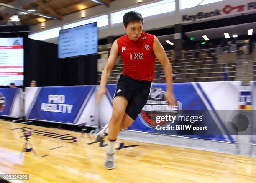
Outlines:
<svg viewBox="0 0 256 183"><path fill-rule="evenodd" d="M108 83L110 72L113 69L113 66L115 65L115 60L117 59L117 57L118 57L118 44L117 44L117 40L115 40L111 46L108 61L101 74L100 89L99 89L99 92L97 93L96 105L100 103L100 99L106 93L106 84Z"/></svg>

